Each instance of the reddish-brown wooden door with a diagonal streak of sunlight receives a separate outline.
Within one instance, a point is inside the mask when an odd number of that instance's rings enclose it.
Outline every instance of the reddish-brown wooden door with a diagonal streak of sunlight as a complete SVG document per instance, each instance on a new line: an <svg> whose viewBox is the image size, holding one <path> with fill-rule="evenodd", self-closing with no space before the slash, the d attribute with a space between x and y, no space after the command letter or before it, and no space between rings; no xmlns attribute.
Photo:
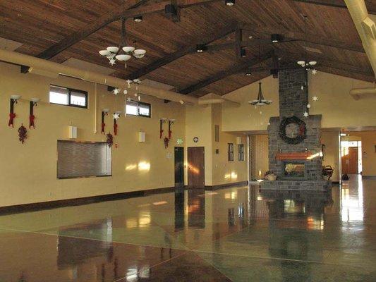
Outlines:
<svg viewBox="0 0 376 282"><path fill-rule="evenodd" d="M205 148L188 147L188 188L205 187Z"/></svg>

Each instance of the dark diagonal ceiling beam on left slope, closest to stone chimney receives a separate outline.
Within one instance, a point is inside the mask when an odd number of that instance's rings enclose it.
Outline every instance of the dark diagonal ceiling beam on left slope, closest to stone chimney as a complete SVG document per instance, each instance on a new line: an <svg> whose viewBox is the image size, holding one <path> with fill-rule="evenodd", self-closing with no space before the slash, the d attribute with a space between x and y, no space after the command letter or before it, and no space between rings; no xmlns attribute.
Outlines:
<svg viewBox="0 0 376 282"><path fill-rule="evenodd" d="M260 58L253 58L253 59L250 59L248 61L242 61L241 63L235 63L234 66L231 66L231 68L226 69L225 71L220 71L219 73L216 73L212 77L207 78L205 80L202 80L202 81L196 83L195 85L190 85L190 86L184 88L183 90L179 91L179 93L189 94L191 92L195 92L197 90L200 90L201 88L203 88L207 85L210 85L214 82L217 82L218 80L222 80L223 78L226 78L229 75L239 73L239 72L245 70L246 68L250 68L252 66L255 66L255 64L257 64L257 63L260 63L262 61L270 59L270 58L272 58L273 54L274 54L273 51L269 51L265 54L262 54L260 56Z"/></svg>

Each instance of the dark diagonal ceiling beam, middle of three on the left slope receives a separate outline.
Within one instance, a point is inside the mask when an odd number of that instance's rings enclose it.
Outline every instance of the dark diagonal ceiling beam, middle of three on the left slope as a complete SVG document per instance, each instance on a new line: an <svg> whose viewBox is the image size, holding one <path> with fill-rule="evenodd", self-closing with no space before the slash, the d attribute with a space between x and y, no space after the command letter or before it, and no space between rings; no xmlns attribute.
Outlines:
<svg viewBox="0 0 376 282"><path fill-rule="evenodd" d="M156 70L157 68L161 68L162 66L165 66L167 63L171 63L172 61L175 61L176 59L179 59L182 56L195 52L197 44L210 44L211 42L214 42L217 39L220 39L222 37L225 37L226 35L229 35L235 30L236 30L236 23L232 23L230 25L227 25L227 27L225 28L219 29L219 32L217 34L210 34L210 35L202 36L202 38L199 39L197 42L193 42L193 44L190 44L186 47L182 47L181 49L178 49L174 53L164 56L163 58L158 59L157 61L154 61L153 63L150 63L149 65L143 68L140 68L140 70L131 73L130 78L131 79L141 78L143 75L146 75L147 73L150 73Z"/></svg>

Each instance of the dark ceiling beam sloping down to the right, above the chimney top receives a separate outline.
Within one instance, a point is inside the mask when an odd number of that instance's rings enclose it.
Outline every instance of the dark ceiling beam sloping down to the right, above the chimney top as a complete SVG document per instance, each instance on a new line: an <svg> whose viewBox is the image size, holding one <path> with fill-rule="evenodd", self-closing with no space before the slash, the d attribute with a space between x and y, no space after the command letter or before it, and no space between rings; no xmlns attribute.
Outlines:
<svg viewBox="0 0 376 282"><path fill-rule="evenodd" d="M298 41L304 41L303 32L291 32L291 31L282 29L280 27L255 26L255 25L250 25L248 23L241 23L240 26L244 30L249 30L250 32L261 32L267 35L278 33L280 35L283 35L284 39L286 40L293 39L293 40L298 40ZM362 44L348 44L348 43L341 42L333 38L321 37L321 36L317 36L316 34L308 33L308 32L307 32L306 42L312 43L312 44L318 44L322 46L327 46L327 47L346 49L349 51L357 51L361 53L365 52Z"/></svg>

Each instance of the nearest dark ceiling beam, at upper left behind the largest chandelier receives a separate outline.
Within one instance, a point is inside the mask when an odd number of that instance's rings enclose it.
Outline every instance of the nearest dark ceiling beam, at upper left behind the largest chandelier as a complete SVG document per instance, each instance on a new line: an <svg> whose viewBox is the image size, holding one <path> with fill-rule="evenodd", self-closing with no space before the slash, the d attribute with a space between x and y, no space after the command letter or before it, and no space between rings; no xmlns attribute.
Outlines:
<svg viewBox="0 0 376 282"><path fill-rule="evenodd" d="M109 25L115 20L120 20L122 17L134 18L135 16L145 15L147 13L162 12L164 11L164 7L171 3L171 1L162 1L145 5L147 1L149 0L126 1L126 11L123 12L122 6L119 6L119 8L116 8L114 11L109 11L105 15L97 18L97 20L84 27L83 30L78 30L78 32L75 32L72 35L65 37L64 39L52 45L48 49L42 51L42 53L37 55L37 57L41 59L51 59L52 57L59 54L61 51L64 51L65 49L71 47L73 44L80 42L85 37L88 37L92 33L96 32L97 30L100 30L102 27L106 25ZM178 5L181 8L187 8L193 5L210 3L212 1L217 0L180 0L178 1Z"/></svg>

